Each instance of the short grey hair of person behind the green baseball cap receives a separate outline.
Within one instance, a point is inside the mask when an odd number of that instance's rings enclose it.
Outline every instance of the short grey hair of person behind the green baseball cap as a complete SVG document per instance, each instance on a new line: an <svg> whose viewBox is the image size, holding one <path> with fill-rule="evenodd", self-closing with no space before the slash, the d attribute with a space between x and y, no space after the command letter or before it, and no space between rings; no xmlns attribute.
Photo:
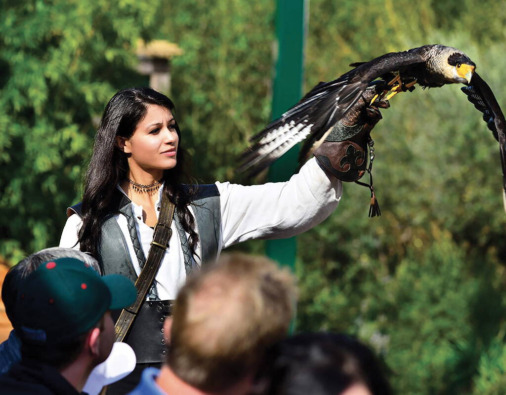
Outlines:
<svg viewBox="0 0 506 395"><path fill-rule="evenodd" d="M14 305L16 303L19 283L30 273L37 270L44 262L59 258L79 259L85 262L85 264L90 265L99 275L101 274L97 259L92 255L73 248L45 248L20 260L19 263L12 267L9 273L7 273L4 285L2 286L2 300L4 301L5 312L13 327L16 327Z"/></svg>

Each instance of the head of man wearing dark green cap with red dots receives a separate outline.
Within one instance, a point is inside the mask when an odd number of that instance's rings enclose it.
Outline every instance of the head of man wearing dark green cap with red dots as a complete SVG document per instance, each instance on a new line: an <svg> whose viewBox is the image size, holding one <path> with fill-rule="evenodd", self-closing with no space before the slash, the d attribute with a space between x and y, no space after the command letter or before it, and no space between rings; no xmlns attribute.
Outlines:
<svg viewBox="0 0 506 395"><path fill-rule="evenodd" d="M77 360L85 370L98 365L114 342L109 311L130 305L136 294L129 279L100 277L82 260L44 262L18 286L14 316L23 359L58 369Z"/></svg>

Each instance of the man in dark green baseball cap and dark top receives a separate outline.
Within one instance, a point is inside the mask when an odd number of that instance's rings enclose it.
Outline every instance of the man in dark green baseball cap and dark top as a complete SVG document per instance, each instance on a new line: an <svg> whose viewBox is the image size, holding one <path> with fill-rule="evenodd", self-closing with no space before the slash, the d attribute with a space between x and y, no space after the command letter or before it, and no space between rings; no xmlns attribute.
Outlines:
<svg viewBox="0 0 506 395"><path fill-rule="evenodd" d="M17 286L21 361L0 376L2 394L77 394L114 342L110 310L130 305L132 282L100 277L75 258L44 262Z"/></svg>

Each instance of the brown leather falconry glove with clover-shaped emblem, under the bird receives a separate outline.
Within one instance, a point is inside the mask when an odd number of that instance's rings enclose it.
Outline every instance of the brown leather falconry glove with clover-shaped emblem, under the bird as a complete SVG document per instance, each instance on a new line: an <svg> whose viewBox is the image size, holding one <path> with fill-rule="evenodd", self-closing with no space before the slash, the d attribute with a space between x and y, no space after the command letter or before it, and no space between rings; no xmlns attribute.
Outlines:
<svg viewBox="0 0 506 395"><path fill-rule="evenodd" d="M383 89L376 85L368 87L314 153L320 167L342 181L357 181L366 171L369 134L382 119L379 108L390 107L388 100L369 106L376 92Z"/></svg>

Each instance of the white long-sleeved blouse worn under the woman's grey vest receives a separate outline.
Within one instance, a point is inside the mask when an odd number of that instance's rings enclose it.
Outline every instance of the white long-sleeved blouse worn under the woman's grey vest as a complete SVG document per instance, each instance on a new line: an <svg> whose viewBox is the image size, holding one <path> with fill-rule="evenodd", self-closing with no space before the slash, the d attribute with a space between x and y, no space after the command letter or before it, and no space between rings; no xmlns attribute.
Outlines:
<svg viewBox="0 0 506 395"><path fill-rule="evenodd" d="M341 181L327 175L314 158L302 166L298 174L292 175L289 181L283 183L243 186L229 182L216 182L216 186L220 193L222 216L218 254L223 248L241 241L282 239L303 233L330 215L343 193ZM156 207L161 202L161 191L162 188L158 192ZM191 206L189 208L192 211ZM136 220L137 235L144 255L147 257L153 240L153 229L142 220L142 206L132 202L132 210ZM156 215L158 215L158 210L156 210ZM114 217L123 232L134 269L139 275L141 269L130 238L126 217L120 213ZM80 226L81 220L78 215L71 215L67 219L60 239L60 247L79 248L77 232ZM197 248L199 249L200 246ZM198 259L193 261L193 267L195 265L200 266ZM185 279L183 250L173 223L169 248L165 252L155 278L160 299L176 299L177 292Z"/></svg>

